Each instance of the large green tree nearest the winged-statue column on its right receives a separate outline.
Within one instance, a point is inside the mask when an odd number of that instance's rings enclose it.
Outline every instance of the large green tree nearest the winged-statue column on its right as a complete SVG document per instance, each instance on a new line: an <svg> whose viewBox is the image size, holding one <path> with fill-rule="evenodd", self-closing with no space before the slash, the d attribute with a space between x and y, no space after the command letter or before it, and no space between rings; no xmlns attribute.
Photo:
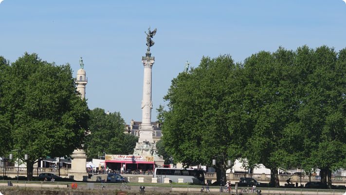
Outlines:
<svg viewBox="0 0 346 195"><path fill-rule="evenodd" d="M159 109L167 153L185 166L211 165L214 156L219 156L215 168L218 182L223 173L223 183L226 160L239 157L242 146L242 138L234 138L241 126L241 121L234 120L240 115L235 103L238 69L230 56L203 57L198 68L172 80L164 97L167 110Z"/></svg>

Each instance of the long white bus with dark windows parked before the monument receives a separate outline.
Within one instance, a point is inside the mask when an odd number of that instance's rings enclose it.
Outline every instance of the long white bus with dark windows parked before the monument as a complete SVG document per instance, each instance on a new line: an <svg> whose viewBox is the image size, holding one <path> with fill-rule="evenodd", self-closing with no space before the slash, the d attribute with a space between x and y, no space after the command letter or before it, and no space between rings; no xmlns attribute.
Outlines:
<svg viewBox="0 0 346 195"><path fill-rule="evenodd" d="M178 179L183 179L183 183L204 184L204 172L197 169L155 168L153 177L159 183L164 183L164 178L169 178L170 183L178 183Z"/></svg>

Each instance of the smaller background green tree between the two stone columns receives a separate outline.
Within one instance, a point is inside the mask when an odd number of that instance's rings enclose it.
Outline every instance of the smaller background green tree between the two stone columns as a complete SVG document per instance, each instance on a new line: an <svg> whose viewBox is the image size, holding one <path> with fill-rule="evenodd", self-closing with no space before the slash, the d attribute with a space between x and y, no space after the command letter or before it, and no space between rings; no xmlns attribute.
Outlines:
<svg viewBox="0 0 346 195"><path fill-rule="evenodd" d="M132 154L138 137L124 134L125 121L119 112L106 114L104 109L90 112L91 135L86 137L88 159L105 154Z"/></svg>

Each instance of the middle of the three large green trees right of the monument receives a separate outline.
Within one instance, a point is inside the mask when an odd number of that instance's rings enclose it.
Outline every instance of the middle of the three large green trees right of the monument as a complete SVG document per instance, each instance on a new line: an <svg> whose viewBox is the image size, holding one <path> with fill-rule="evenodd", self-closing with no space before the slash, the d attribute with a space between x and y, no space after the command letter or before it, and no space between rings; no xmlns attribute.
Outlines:
<svg viewBox="0 0 346 195"><path fill-rule="evenodd" d="M280 166L297 165L303 136L297 128L299 74L295 53L279 48L259 52L244 61L243 105L251 123L244 156L250 165L263 164L271 170L271 186L278 187Z"/></svg>

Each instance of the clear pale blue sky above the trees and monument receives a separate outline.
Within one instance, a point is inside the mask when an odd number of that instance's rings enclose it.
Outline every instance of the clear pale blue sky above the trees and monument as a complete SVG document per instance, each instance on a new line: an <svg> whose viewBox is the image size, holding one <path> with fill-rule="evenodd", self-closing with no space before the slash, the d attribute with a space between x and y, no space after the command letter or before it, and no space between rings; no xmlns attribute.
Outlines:
<svg viewBox="0 0 346 195"><path fill-rule="evenodd" d="M186 60L230 54L243 61L261 50L328 45L346 47L343 0L3 0L0 56L24 52L48 62L83 57L91 109L120 112L141 121L145 31L157 28L151 47L152 120Z"/></svg>

